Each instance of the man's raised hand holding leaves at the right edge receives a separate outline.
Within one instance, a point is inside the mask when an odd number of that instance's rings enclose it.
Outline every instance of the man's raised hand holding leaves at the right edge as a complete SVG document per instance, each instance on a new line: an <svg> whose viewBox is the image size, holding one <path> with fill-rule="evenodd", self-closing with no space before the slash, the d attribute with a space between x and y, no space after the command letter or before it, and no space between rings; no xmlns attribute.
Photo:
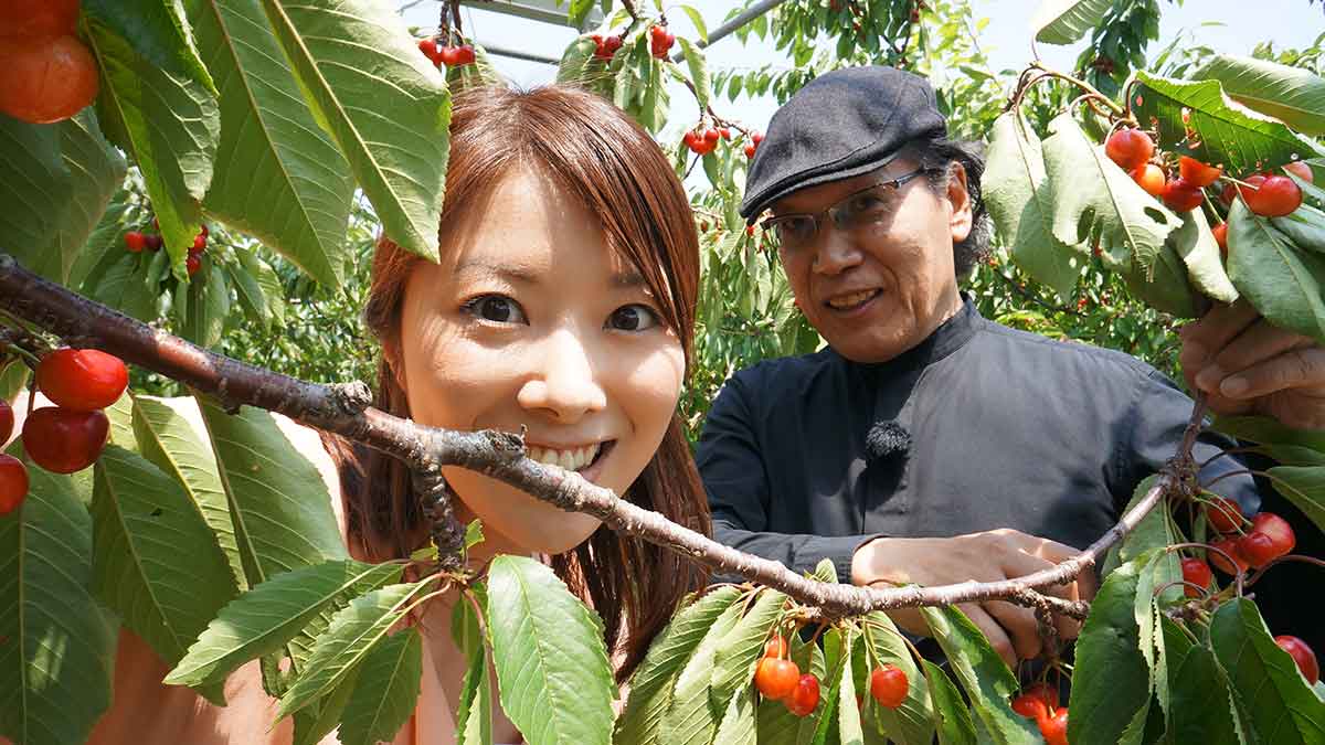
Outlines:
<svg viewBox="0 0 1325 745"><path fill-rule="evenodd" d="M1325 349L1277 329L1239 300L1187 323L1182 374L1218 414L1265 414L1298 430L1325 428Z"/></svg>

